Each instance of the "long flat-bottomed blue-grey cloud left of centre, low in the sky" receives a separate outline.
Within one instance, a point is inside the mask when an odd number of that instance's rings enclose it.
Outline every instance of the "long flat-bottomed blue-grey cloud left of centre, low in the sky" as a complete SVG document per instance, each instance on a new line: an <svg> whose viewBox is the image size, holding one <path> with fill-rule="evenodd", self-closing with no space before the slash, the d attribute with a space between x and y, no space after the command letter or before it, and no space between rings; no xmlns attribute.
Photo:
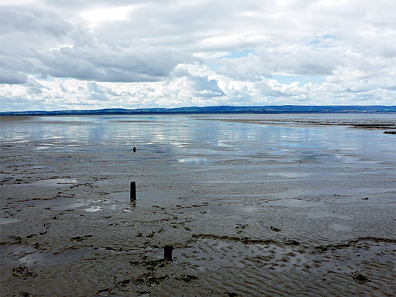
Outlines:
<svg viewBox="0 0 396 297"><path fill-rule="evenodd" d="M128 48L96 41L45 52L40 61L41 74L56 78L144 82L168 76L177 64L194 63L195 59L182 52L154 48L143 41Z"/></svg>

